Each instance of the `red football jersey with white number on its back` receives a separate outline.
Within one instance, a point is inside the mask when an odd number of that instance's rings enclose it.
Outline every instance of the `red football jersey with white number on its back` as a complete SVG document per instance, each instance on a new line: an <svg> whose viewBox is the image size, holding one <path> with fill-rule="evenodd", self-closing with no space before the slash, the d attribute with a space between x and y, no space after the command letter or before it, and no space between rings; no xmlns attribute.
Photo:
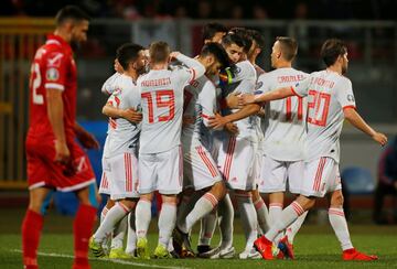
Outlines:
<svg viewBox="0 0 397 269"><path fill-rule="evenodd" d="M47 88L63 92L64 128L67 141L74 139L76 118L77 69L71 45L50 34L35 53L30 75L30 128L28 137L54 139L47 116Z"/></svg>

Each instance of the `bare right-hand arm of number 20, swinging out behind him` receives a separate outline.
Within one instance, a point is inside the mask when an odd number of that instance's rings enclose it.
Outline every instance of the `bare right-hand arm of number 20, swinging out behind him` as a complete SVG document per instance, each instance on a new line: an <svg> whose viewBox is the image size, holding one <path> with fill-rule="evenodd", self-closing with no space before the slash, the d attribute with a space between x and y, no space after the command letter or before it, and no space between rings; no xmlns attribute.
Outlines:
<svg viewBox="0 0 397 269"><path fill-rule="evenodd" d="M348 122L351 122L358 130L368 134L376 142L382 146L385 146L387 143L387 137L384 133L377 132L373 128L371 128L371 126L365 122L365 120L360 116L355 108L346 107L343 109L343 114Z"/></svg>

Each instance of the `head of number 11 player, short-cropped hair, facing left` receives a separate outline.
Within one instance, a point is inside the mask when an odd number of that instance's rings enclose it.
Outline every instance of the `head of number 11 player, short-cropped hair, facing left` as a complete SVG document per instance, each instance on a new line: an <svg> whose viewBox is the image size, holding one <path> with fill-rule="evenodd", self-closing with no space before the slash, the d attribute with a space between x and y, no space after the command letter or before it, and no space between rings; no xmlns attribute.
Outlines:
<svg viewBox="0 0 397 269"><path fill-rule="evenodd" d="M280 62L292 63L298 53L298 43L292 37L278 36L271 49L271 66L278 67Z"/></svg>

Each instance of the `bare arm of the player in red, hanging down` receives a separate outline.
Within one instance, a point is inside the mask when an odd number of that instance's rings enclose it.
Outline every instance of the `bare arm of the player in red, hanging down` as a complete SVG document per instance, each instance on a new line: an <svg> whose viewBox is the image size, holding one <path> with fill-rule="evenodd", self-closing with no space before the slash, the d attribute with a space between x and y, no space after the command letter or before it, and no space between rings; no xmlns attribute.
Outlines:
<svg viewBox="0 0 397 269"><path fill-rule="evenodd" d="M62 90L55 88L46 89L47 115L55 136L55 162L67 163L71 152L66 144L66 134L64 127L64 105Z"/></svg>

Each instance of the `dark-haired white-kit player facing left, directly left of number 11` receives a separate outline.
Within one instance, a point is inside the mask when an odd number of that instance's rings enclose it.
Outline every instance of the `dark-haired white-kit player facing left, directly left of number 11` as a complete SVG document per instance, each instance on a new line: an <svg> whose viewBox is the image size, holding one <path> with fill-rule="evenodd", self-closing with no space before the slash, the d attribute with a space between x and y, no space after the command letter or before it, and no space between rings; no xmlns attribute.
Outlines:
<svg viewBox="0 0 397 269"><path fill-rule="evenodd" d="M243 45L243 52L238 53L238 44ZM236 63L230 84L222 87L223 98L226 99L228 95L235 93L253 94L257 79L256 71L254 65L246 60L251 47L251 40L243 34L229 33L224 36L223 45L230 60ZM257 238L258 222L250 193L256 189L254 163L258 149L259 119L256 114L259 109L258 105L247 106L243 109L223 107L224 116L216 115L210 121L210 126L213 128L235 122L239 130L237 136L223 132L217 161L226 185L234 191L240 211L240 219L247 239L245 250L239 254L240 259L260 258L260 255L253 248L253 243Z"/></svg>

